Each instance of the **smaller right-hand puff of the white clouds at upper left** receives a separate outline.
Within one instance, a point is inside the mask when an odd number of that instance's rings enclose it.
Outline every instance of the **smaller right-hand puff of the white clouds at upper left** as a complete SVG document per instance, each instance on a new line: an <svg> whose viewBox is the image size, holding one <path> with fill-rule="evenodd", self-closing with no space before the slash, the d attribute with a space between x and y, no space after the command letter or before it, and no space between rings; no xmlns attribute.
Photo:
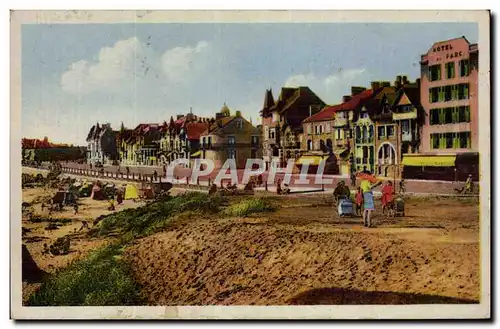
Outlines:
<svg viewBox="0 0 500 329"><path fill-rule="evenodd" d="M208 42L200 41L194 47L176 47L167 50L162 56L163 70L170 80L185 80L188 74L200 69L205 63L201 61L206 52Z"/></svg>

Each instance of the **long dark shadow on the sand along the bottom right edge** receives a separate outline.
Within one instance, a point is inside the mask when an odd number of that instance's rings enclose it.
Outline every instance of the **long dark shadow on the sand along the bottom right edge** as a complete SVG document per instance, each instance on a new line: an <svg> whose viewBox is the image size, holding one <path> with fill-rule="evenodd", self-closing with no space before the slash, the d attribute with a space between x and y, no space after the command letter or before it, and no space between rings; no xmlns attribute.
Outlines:
<svg viewBox="0 0 500 329"><path fill-rule="evenodd" d="M477 304L479 301L390 291L319 288L291 298L290 305Z"/></svg>

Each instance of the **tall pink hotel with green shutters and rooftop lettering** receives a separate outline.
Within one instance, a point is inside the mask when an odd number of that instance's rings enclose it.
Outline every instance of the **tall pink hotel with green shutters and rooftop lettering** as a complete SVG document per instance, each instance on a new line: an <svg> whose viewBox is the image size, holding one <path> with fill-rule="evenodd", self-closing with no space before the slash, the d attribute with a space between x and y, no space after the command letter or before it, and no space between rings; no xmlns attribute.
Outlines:
<svg viewBox="0 0 500 329"><path fill-rule="evenodd" d="M436 42L421 56L425 110L420 153L478 151L478 46L465 37Z"/></svg>

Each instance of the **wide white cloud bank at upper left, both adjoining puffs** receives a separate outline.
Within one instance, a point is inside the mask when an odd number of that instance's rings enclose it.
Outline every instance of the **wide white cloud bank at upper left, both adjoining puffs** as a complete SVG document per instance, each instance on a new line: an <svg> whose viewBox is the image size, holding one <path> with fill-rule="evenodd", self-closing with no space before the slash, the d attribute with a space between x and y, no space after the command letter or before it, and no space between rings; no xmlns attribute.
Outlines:
<svg viewBox="0 0 500 329"><path fill-rule="evenodd" d="M120 40L102 48L95 62L71 64L61 76L61 88L75 95L96 91L130 94L137 88L151 88L151 76L156 78L155 86L178 83L202 67L200 55L207 47L207 42L200 41L194 47L176 47L161 55L136 37Z"/></svg>

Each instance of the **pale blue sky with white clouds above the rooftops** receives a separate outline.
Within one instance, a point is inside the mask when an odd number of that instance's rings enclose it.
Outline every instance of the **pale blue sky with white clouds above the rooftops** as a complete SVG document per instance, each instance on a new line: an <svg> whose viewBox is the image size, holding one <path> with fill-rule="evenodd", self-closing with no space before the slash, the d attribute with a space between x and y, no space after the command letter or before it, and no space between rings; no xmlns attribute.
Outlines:
<svg viewBox="0 0 500 329"><path fill-rule="evenodd" d="M266 88L308 85L336 104L352 85L411 80L435 41L475 23L30 24L22 27L22 133L85 144L119 128L224 102L258 123Z"/></svg>

